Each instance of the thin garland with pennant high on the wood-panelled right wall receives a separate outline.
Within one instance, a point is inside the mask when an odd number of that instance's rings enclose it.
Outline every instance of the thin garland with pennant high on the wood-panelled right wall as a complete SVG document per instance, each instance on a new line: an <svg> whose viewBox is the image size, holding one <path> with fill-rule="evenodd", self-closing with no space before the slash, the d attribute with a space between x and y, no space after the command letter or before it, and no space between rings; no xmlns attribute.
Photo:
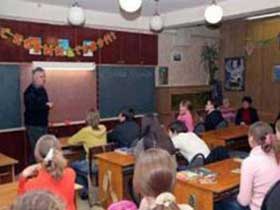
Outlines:
<svg viewBox="0 0 280 210"><path fill-rule="evenodd" d="M254 53L254 50L256 48L262 48L262 47L266 47L270 44L273 44L277 42L277 45L279 47L280 50L280 32L277 34L276 37L272 37L269 39L263 39L263 40L258 40L258 41L253 41L250 38L246 39L246 45L244 47L245 52L247 55L252 55Z"/></svg>

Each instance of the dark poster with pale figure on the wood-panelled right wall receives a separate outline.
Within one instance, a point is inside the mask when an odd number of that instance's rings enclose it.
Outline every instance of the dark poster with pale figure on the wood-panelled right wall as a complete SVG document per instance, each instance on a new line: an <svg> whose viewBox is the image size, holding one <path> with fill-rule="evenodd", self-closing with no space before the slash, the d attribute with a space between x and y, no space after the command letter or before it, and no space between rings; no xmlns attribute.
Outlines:
<svg viewBox="0 0 280 210"><path fill-rule="evenodd" d="M244 57L225 58L225 90L243 91L245 89Z"/></svg>

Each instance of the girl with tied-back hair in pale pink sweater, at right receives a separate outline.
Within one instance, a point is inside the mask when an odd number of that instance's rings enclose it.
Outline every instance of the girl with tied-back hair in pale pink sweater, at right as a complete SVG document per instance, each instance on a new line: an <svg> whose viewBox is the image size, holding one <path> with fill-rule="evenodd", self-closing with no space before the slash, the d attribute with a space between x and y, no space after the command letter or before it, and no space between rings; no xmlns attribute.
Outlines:
<svg viewBox="0 0 280 210"><path fill-rule="evenodd" d="M241 166L241 181L237 201L222 201L217 209L222 210L260 210L268 190L280 180L280 165L272 128L264 122L251 125L248 133L252 148Z"/></svg>

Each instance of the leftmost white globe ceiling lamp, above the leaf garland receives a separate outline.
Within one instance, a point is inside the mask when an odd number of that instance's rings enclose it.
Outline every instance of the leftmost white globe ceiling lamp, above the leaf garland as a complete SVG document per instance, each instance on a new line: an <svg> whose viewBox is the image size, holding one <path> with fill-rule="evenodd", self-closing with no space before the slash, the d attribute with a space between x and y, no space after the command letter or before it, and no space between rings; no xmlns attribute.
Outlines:
<svg viewBox="0 0 280 210"><path fill-rule="evenodd" d="M75 2L69 9L68 22L73 26L83 25L86 21L85 13L83 8Z"/></svg>

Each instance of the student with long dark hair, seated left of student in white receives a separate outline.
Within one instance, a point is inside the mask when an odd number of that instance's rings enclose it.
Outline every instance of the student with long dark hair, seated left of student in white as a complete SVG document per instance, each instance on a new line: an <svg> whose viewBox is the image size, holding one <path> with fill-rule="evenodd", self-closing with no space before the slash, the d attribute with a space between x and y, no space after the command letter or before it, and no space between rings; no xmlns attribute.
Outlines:
<svg viewBox="0 0 280 210"><path fill-rule="evenodd" d="M138 157L143 150L150 148L161 148L171 155L176 152L171 139L164 132L157 116L154 114L147 114L142 118L140 140L133 148L133 153Z"/></svg>

